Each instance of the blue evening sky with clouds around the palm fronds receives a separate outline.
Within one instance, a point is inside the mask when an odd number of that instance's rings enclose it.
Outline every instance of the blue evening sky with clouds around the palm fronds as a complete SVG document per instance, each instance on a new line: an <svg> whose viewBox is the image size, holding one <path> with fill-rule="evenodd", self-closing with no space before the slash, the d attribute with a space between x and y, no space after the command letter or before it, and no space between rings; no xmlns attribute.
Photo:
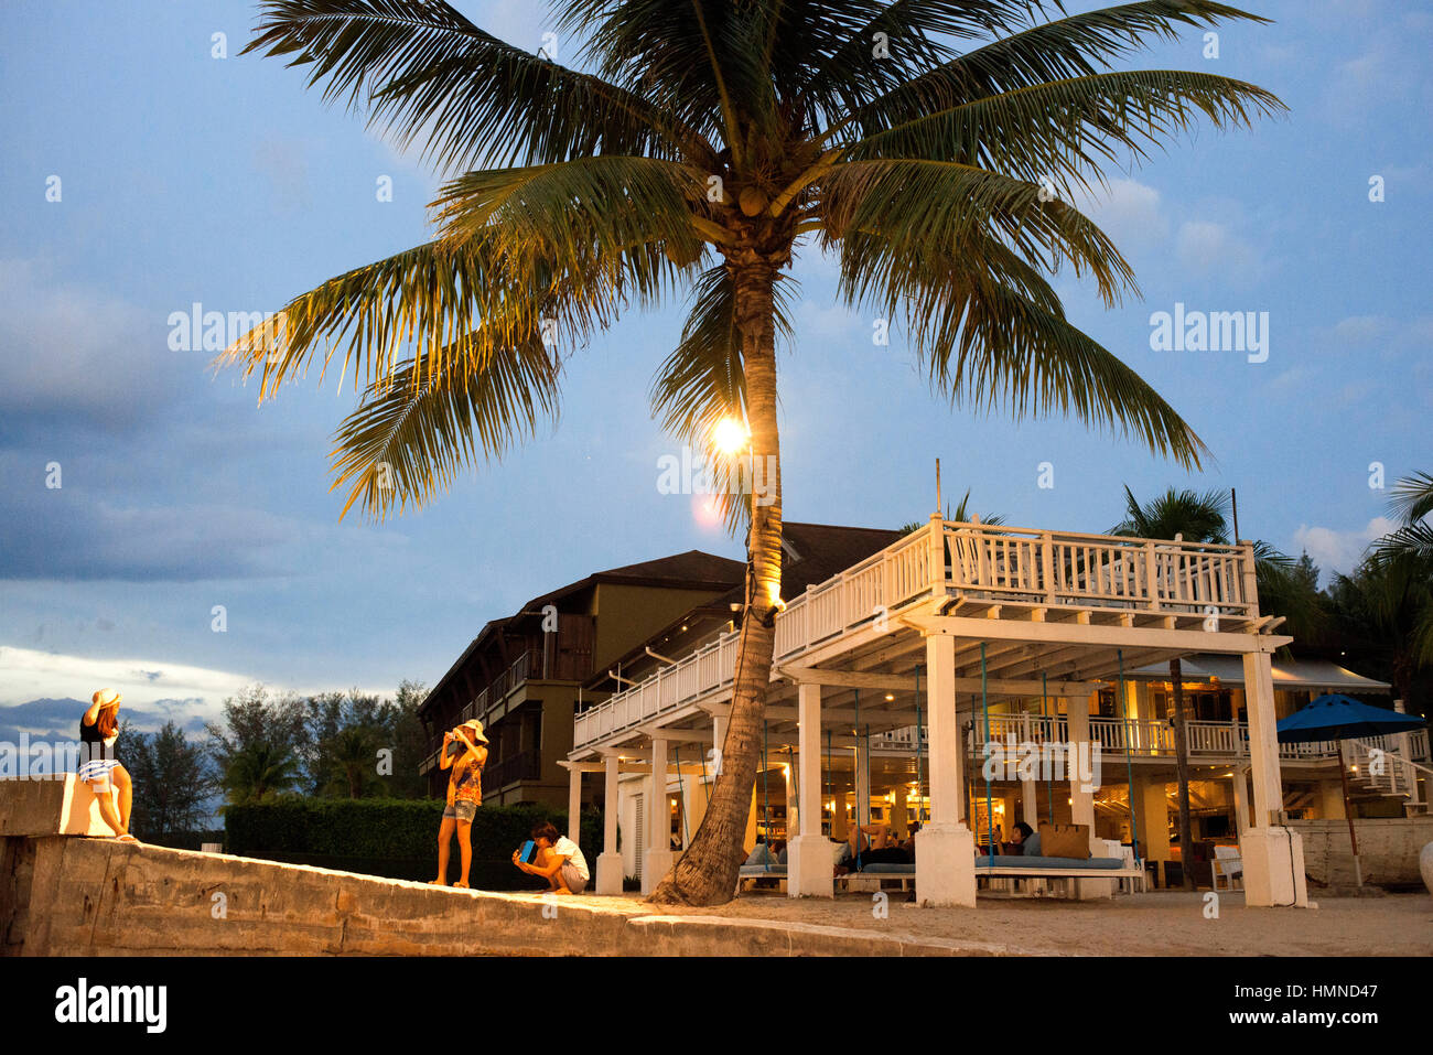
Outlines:
<svg viewBox="0 0 1433 1055"><path fill-rule="evenodd" d="M536 50L529 3L459 3ZM1093 3L1073 4L1095 7ZM1237 487L1245 536L1347 569L1381 529L1387 483L1433 469L1433 7L1251 0L1225 26L1139 59L1252 80L1290 106L1194 136L1129 172L1092 215L1144 301L1103 310L1060 277L1072 318L1139 370L1214 452L1188 474L1050 419L933 396L896 331L795 275L780 360L785 515L898 526L946 492L1010 523L1105 530L1121 484ZM566 366L556 430L373 526L328 490L351 388L317 377L257 407L205 351L171 351L193 302L271 311L426 238L438 176L325 108L304 75L238 57L252 3L20 0L0 40L0 705L115 685L158 712L212 714L251 681L298 691L431 684L481 624L592 571L741 546L659 493L676 447L648 386L682 310L631 315ZM215 59L212 34L228 57ZM559 57L575 50L559 42ZM50 176L60 201L46 199ZM377 201L381 176L393 201ZM1384 201L1369 201L1381 176ZM1154 351L1156 311L1268 312L1268 358ZM1037 486L1039 466L1055 486ZM59 463L60 487L47 487ZM212 628L222 605L225 632Z"/></svg>

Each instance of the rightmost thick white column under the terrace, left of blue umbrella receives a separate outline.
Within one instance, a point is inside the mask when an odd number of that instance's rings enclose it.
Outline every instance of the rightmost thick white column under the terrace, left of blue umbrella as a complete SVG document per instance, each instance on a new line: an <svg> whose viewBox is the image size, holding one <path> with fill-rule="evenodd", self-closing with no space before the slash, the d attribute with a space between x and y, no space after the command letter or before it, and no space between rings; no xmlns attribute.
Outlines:
<svg viewBox="0 0 1433 1055"><path fill-rule="evenodd" d="M1283 824L1284 788L1278 773L1278 730L1274 718L1274 674L1267 652L1244 655L1244 704L1250 722L1254 775L1254 823L1241 840L1244 903L1308 906L1304 843Z"/></svg>

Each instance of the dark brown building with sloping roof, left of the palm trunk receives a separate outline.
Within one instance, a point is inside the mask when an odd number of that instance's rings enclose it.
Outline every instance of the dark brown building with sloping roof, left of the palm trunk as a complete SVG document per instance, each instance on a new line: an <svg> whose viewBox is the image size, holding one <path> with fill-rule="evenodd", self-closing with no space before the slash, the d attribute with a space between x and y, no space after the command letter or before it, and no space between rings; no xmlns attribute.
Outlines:
<svg viewBox="0 0 1433 1055"><path fill-rule="evenodd" d="M420 773L443 794L443 734L477 718L489 738L483 800L567 803L573 715L595 672L620 678L622 658L684 612L739 588L745 565L701 550L596 572L493 619L428 692ZM729 618L729 614L728 614ZM606 692L599 695L605 697ZM602 788L595 788L600 793ZM590 798L588 801L592 801Z"/></svg>

